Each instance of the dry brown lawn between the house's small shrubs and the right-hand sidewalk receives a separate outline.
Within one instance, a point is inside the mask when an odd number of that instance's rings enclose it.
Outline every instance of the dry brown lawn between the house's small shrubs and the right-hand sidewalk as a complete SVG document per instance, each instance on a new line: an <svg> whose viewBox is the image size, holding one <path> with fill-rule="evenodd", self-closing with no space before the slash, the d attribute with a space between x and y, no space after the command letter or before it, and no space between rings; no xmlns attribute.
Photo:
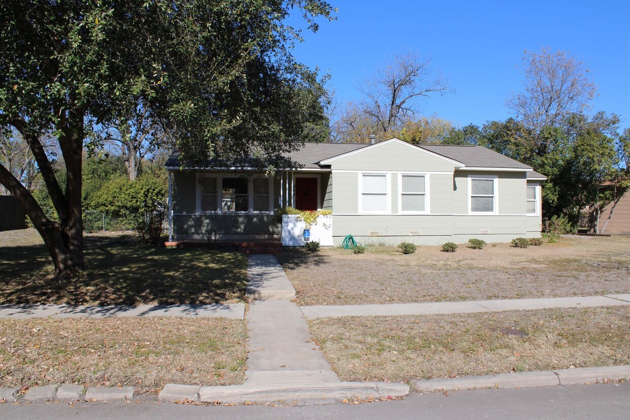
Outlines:
<svg viewBox="0 0 630 420"><path fill-rule="evenodd" d="M299 305L388 304L630 293L630 237L563 237L518 249L419 246L277 254Z"/></svg>

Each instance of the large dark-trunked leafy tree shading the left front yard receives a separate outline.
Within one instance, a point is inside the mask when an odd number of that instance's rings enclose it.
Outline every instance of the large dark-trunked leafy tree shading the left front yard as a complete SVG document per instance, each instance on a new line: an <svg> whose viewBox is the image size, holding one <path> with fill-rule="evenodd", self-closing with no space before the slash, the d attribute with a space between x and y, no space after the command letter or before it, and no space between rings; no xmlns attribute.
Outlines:
<svg viewBox="0 0 630 420"><path fill-rule="evenodd" d="M277 156L323 118L315 72L295 62L287 25L333 9L321 0L6 0L0 3L0 124L28 143L59 216L50 220L19 179L0 183L25 207L57 274L83 268L81 165L88 122L146 106L189 158ZM55 177L42 142L66 166ZM95 145L88 144L88 150Z"/></svg>

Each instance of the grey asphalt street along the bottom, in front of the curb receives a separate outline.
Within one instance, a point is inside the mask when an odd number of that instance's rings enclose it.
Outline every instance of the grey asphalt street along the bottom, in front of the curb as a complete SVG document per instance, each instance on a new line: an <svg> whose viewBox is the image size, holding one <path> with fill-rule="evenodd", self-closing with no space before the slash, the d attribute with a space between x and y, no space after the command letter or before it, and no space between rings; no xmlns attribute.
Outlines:
<svg viewBox="0 0 630 420"><path fill-rule="evenodd" d="M0 419L627 419L630 383L412 394L404 400L321 406L1 404Z"/></svg>

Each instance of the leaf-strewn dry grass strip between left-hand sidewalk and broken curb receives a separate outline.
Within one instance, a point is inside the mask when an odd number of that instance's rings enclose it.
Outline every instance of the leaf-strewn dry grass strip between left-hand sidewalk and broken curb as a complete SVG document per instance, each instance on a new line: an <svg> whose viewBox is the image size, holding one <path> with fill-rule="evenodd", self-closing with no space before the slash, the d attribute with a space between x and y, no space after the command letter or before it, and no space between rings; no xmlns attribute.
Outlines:
<svg viewBox="0 0 630 420"><path fill-rule="evenodd" d="M221 318L0 320L0 387L50 383L242 383L243 321Z"/></svg>

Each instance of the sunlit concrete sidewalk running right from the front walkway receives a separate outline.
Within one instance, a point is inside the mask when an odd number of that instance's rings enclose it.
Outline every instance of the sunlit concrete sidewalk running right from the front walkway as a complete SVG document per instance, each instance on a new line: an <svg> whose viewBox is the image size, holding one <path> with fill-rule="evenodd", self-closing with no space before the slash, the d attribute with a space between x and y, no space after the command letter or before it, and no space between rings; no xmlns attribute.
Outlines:
<svg viewBox="0 0 630 420"><path fill-rule="evenodd" d="M302 314L309 319L347 316L391 316L466 314L469 312L499 312L546 308L583 308L630 305L630 294L586 297L555 297L539 299L476 300L471 302L428 302L426 304L385 305L317 305L302 306Z"/></svg>

